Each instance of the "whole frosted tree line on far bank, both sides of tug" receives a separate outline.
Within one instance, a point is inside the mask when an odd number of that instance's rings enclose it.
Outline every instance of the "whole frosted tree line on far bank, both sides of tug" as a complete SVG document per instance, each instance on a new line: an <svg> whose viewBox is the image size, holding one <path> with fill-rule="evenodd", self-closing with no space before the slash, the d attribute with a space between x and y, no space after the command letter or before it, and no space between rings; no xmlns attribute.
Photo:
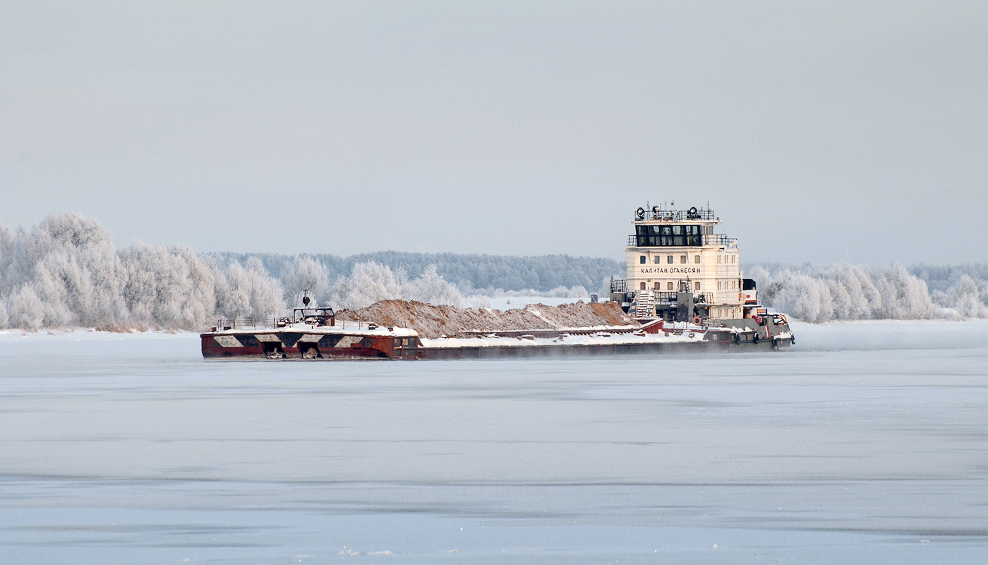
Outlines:
<svg viewBox="0 0 988 565"><path fill-rule="evenodd" d="M490 307L499 293L587 298L623 276L614 259L380 251L196 253L116 247L96 220L52 215L30 230L0 226L0 329L200 330L218 318L270 321L314 304L363 308L388 299ZM746 265L760 300L805 322L988 318L988 264Z"/></svg>

